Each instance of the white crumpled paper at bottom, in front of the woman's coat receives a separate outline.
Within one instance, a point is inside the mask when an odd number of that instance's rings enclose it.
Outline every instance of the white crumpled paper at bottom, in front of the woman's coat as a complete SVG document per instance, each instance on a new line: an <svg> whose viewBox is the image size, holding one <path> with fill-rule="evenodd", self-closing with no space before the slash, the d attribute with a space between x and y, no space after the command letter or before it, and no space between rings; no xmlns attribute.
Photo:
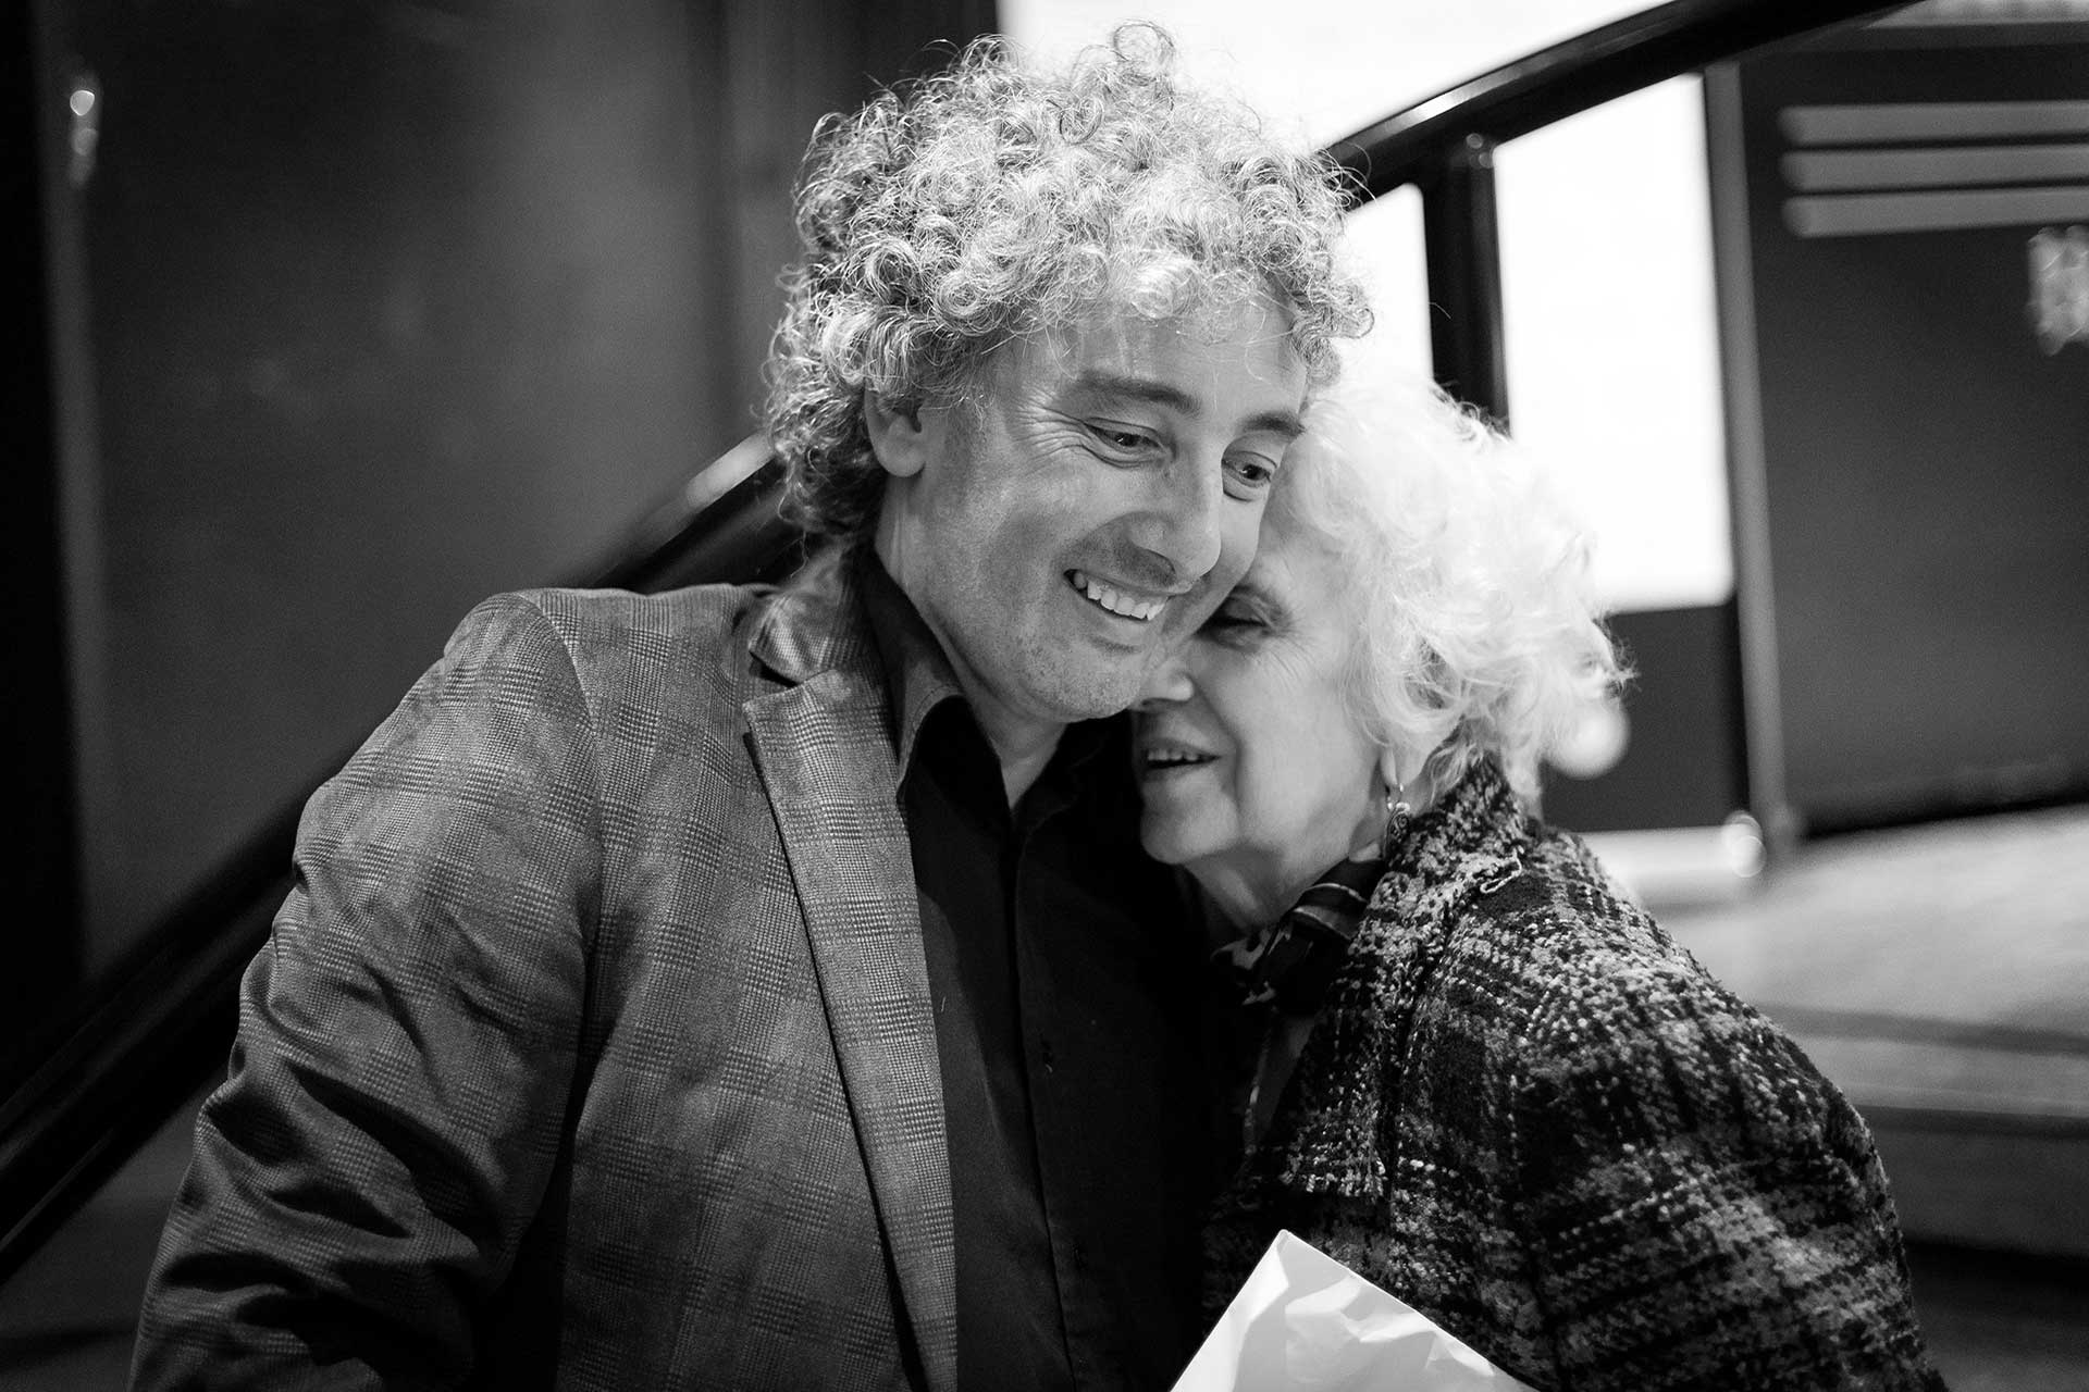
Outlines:
<svg viewBox="0 0 2089 1392"><path fill-rule="evenodd" d="M1276 1233L1174 1392L1531 1392L1427 1315Z"/></svg>

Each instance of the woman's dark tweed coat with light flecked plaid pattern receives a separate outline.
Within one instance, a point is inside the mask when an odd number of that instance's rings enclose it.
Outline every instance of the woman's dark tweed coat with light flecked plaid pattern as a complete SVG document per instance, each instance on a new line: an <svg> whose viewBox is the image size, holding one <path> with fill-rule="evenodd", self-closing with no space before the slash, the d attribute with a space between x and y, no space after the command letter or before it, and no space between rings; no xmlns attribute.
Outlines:
<svg viewBox="0 0 2089 1392"><path fill-rule="evenodd" d="M1943 1386L1863 1121L1492 764L1393 851L1214 1315L1278 1227L1550 1392Z"/></svg>

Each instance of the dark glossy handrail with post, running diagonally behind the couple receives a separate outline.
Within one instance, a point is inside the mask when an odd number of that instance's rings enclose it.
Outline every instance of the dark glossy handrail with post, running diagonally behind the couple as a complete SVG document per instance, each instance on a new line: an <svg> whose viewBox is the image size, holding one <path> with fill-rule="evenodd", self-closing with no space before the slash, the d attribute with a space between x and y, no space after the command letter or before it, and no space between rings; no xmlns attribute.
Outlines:
<svg viewBox="0 0 2089 1392"><path fill-rule="evenodd" d="M1356 200L1423 194L1437 378L1506 419L1494 148L1615 96L1882 8L1876 0L1675 0L1458 83L1329 152ZM800 559L777 465L748 440L700 470L593 584L777 578ZM309 791L309 789L307 789ZM0 1281L224 1064L238 977L288 889L284 808L196 891L0 1104Z"/></svg>

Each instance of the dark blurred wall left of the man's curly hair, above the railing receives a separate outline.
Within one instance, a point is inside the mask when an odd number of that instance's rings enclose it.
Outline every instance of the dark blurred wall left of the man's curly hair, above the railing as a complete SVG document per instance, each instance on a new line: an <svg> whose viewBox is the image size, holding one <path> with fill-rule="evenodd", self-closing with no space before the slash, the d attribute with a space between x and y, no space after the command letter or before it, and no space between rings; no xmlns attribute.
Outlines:
<svg viewBox="0 0 2089 1392"><path fill-rule="evenodd" d="M813 119L990 19L856 8L38 10L90 977L754 428Z"/></svg>

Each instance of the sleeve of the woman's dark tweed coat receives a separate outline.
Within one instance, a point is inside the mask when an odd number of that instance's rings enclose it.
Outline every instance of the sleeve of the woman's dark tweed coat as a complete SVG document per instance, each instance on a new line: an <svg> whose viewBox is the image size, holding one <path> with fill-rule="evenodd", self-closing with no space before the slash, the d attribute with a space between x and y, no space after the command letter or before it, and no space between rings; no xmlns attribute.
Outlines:
<svg viewBox="0 0 2089 1392"><path fill-rule="evenodd" d="M1863 1121L1688 962L1560 964L1515 1104L1569 1388L1943 1388Z"/></svg>

